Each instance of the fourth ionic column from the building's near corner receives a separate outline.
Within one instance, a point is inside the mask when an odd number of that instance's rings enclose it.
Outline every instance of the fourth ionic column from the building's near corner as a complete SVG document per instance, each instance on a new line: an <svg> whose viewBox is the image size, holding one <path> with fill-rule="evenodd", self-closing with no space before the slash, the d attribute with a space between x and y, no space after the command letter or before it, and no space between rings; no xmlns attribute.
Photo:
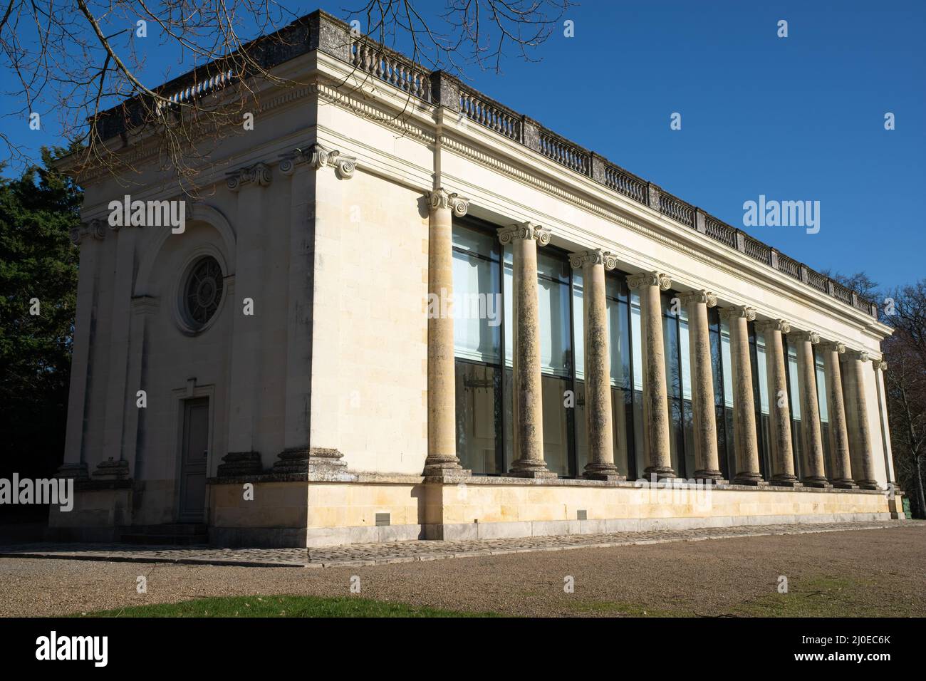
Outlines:
<svg viewBox="0 0 926 681"><path fill-rule="evenodd" d="M640 295L643 340L643 448L644 475L657 479L677 477L669 448L669 390L666 386L666 352L662 339L662 304L659 291L672 285L668 274L657 271L627 278Z"/></svg>

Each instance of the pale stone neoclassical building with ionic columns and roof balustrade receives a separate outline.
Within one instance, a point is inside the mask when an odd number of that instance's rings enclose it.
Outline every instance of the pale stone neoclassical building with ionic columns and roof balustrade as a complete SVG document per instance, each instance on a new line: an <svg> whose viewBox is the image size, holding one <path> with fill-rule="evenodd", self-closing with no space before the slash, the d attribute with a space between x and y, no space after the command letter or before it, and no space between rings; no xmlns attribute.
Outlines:
<svg viewBox="0 0 926 681"><path fill-rule="evenodd" d="M80 177L79 497L56 534L316 546L895 513L873 304L336 19L284 32L273 68L302 84L261 86L183 233L110 227L125 190ZM221 95L201 78L165 92ZM144 169L131 198L181 199L127 110L97 125Z"/></svg>

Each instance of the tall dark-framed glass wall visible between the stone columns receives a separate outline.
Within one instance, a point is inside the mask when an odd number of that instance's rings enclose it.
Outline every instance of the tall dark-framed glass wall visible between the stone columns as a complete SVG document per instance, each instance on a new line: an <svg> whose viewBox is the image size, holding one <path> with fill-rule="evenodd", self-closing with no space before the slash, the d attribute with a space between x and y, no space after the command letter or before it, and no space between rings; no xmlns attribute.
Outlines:
<svg viewBox="0 0 926 681"><path fill-rule="evenodd" d="M453 241L457 456L473 473L504 475L512 460L511 253L498 242L493 225L469 218L454 221ZM588 462L582 272L569 267L568 256L554 246L538 251L537 289L544 460L559 476L577 477ZM606 288L614 460L620 473L635 479L644 469L640 300L628 291L624 272L608 272ZM482 304L482 314L477 314L480 301L487 302ZM461 304L465 309L459 309ZM688 317L672 291L662 295L662 320L672 466L680 476L690 477L694 474L694 423ZM730 333L717 309L709 310L709 320L720 465L729 479L734 473ZM751 325L750 343L762 473L767 474L765 344Z"/></svg>

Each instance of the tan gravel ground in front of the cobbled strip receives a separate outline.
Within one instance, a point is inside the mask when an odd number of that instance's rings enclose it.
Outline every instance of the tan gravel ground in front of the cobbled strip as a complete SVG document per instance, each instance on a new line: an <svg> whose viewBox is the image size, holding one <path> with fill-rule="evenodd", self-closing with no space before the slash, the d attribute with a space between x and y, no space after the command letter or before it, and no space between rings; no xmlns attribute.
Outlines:
<svg viewBox="0 0 926 681"><path fill-rule="evenodd" d="M62 615L219 595L346 596L353 575L364 597L450 610L722 615L768 598L779 575L786 575L795 591L816 588L821 579L842 585L821 598L836 606L851 601L855 614L923 616L923 565L926 523L319 570L0 558L0 615ZM136 578L143 574L147 593L139 594ZM573 593L564 592L567 577L574 580Z"/></svg>

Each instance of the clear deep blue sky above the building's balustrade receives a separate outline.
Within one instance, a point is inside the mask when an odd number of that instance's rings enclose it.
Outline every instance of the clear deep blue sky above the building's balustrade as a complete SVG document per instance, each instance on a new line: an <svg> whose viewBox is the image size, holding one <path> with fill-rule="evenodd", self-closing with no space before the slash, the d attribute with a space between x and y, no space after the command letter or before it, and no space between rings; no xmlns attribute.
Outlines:
<svg viewBox="0 0 926 681"><path fill-rule="evenodd" d="M291 6L344 18L363 4ZM926 3L586 0L564 19L575 37L555 32L540 63L512 54L470 83L734 226L758 195L820 201L820 233L748 229L812 268L926 277ZM148 84L184 70L159 47L148 58ZM33 152L59 142L19 120L0 130Z"/></svg>

